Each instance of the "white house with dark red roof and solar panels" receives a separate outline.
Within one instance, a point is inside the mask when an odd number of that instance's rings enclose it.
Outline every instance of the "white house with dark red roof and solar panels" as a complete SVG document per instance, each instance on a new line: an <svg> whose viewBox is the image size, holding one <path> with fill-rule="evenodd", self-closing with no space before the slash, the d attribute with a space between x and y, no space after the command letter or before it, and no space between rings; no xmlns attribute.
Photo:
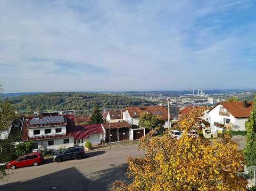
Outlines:
<svg viewBox="0 0 256 191"><path fill-rule="evenodd" d="M25 117L21 129L21 141L34 141L42 150L100 143L104 134L100 124L75 125L74 115Z"/></svg>

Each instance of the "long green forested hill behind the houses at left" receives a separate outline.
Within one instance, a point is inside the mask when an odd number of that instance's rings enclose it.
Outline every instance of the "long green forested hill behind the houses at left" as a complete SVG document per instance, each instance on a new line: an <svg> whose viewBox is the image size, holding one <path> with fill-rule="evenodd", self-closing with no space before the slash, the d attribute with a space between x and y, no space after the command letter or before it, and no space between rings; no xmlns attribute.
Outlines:
<svg viewBox="0 0 256 191"><path fill-rule="evenodd" d="M24 95L9 98L19 112L55 111L75 109L88 113L94 105L104 108L123 108L127 106L151 105L152 102L140 98L117 94L54 92Z"/></svg>

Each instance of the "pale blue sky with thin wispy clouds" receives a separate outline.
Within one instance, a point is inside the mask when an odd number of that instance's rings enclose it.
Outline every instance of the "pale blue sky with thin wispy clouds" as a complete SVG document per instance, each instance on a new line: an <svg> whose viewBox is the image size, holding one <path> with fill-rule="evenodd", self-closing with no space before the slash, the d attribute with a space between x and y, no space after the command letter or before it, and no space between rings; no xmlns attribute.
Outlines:
<svg viewBox="0 0 256 191"><path fill-rule="evenodd" d="M5 92L256 88L255 0L0 0Z"/></svg>

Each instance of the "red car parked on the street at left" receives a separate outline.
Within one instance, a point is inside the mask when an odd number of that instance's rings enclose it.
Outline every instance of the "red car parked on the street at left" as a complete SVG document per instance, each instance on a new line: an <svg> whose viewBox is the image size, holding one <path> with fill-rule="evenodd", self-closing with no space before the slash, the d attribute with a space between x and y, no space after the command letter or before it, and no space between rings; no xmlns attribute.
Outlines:
<svg viewBox="0 0 256 191"><path fill-rule="evenodd" d="M19 167L37 166L43 162L42 153L27 153L17 160L8 162L7 168L15 169Z"/></svg>

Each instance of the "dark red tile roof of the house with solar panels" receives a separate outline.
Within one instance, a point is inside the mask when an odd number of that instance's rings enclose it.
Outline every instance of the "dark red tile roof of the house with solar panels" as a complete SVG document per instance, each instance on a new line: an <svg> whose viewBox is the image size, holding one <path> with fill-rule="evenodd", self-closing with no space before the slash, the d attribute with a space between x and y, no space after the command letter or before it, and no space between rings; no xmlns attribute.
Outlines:
<svg viewBox="0 0 256 191"><path fill-rule="evenodd" d="M33 117L25 117L22 127L22 141L27 140L41 140L41 139L52 139L52 138L66 138L73 137L74 139L89 138L92 134L103 134L104 131L101 124L86 124L86 125L75 125L74 115L64 115L66 118L66 134L60 135L49 135L43 137L28 137L28 124Z"/></svg>

